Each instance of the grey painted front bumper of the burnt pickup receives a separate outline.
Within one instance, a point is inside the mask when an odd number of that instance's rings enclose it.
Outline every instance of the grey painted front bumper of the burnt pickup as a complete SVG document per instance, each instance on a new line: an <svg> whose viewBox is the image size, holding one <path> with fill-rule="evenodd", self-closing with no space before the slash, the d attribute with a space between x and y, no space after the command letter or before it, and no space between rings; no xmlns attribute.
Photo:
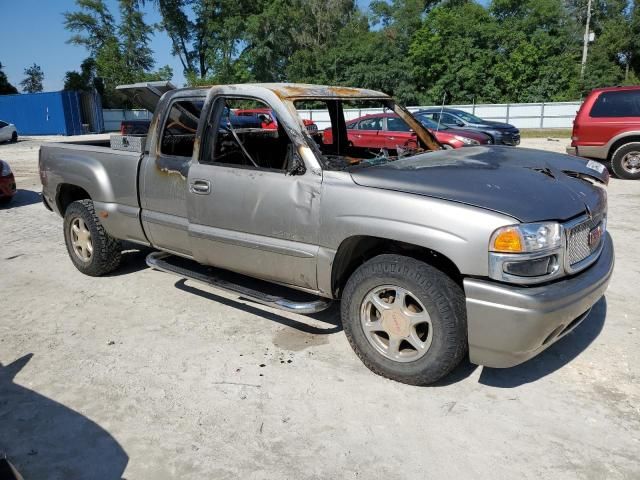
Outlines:
<svg viewBox="0 0 640 480"><path fill-rule="evenodd" d="M527 288L465 279L471 362L494 368L518 365L584 320L613 273L614 249L608 233L604 241L592 266L549 285Z"/></svg>

